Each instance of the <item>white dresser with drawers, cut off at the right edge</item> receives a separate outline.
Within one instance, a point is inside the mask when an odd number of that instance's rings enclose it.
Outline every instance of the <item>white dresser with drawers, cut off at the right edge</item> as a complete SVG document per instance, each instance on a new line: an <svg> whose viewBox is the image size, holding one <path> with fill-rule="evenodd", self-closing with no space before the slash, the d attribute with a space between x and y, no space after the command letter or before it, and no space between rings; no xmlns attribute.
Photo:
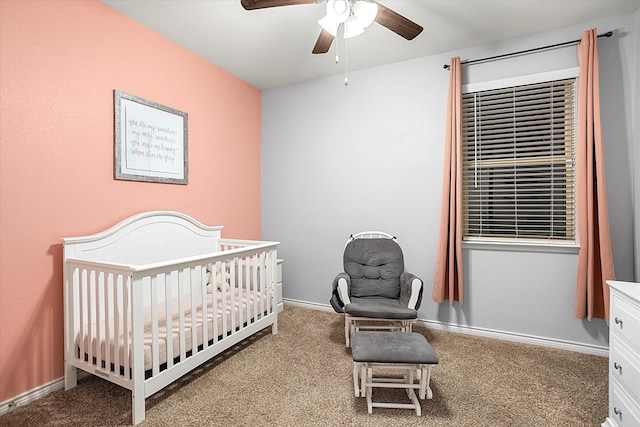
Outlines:
<svg viewBox="0 0 640 427"><path fill-rule="evenodd" d="M609 416L602 426L640 426L640 283L608 280Z"/></svg>

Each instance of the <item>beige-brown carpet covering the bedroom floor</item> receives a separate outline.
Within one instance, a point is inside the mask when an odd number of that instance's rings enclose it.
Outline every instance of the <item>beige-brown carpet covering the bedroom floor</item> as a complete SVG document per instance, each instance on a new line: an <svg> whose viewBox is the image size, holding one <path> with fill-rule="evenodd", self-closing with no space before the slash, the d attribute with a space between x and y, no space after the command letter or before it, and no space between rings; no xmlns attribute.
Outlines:
<svg viewBox="0 0 640 427"><path fill-rule="evenodd" d="M338 314L285 306L270 328L147 399L141 426L598 426L607 358L416 327L438 353L422 417L353 393ZM406 400L374 390L376 400ZM97 377L0 417L1 426L111 426L131 421L130 394Z"/></svg>

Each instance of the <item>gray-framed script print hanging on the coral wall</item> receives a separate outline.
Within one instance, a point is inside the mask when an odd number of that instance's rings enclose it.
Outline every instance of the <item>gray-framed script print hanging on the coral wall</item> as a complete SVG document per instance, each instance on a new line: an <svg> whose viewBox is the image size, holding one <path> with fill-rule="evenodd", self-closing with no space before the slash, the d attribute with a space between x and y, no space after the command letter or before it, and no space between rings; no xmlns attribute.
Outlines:
<svg viewBox="0 0 640 427"><path fill-rule="evenodd" d="M188 183L187 113L119 90L114 99L114 178Z"/></svg>

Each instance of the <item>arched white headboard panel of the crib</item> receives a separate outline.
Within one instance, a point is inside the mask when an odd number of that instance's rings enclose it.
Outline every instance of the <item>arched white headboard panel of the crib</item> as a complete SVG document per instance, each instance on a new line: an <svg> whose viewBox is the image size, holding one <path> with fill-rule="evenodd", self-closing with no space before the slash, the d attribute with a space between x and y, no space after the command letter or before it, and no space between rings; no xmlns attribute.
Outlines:
<svg viewBox="0 0 640 427"><path fill-rule="evenodd" d="M180 212L143 212L97 234L63 238L64 259L141 265L210 254L219 250L222 228Z"/></svg>

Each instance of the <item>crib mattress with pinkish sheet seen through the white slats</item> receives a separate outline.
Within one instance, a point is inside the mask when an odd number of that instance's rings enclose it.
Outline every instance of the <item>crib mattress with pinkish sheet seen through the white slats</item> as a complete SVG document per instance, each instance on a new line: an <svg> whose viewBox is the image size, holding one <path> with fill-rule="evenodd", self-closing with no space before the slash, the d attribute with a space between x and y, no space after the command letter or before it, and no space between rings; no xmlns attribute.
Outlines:
<svg viewBox="0 0 640 427"><path fill-rule="evenodd" d="M233 291L229 291L226 293L226 303L224 303L222 299L222 292L218 292L217 294L217 308L213 310L213 295L207 294L207 304L206 304L206 319L207 319L207 341L209 343L214 340L215 335L220 338L223 335L228 334L232 328L241 327L243 324L250 323L253 319L254 313L261 314L262 301L265 300L265 306L268 303L266 301L265 295L253 291L247 291L245 289L235 289ZM203 336L203 318L204 311L202 308L202 304L196 307L196 316L195 321L196 325L193 324L193 316L191 311L191 301L190 298L184 298L186 302L185 310L184 310L184 348L185 353L191 352L193 350L193 328L196 328L196 337L197 344L196 347L202 346L204 343ZM167 363L167 321L165 313L164 305L158 310L158 360L159 365L163 365ZM174 310L174 313L178 313L177 310ZM215 317L215 319L214 319ZM234 319L235 317L235 319ZM150 371L153 367L153 337L152 337L152 326L151 326L151 316L150 310L147 310L145 313L145 328L144 328L144 369L145 371ZM232 320L234 319L234 320ZM214 329L214 321L216 322L216 328ZM171 336L172 336L172 357L174 361L179 359L180 354L180 316L178 314L174 314L171 319ZM80 343L83 342L84 348L84 357L85 360L88 358L88 350L89 350L89 341L91 341L91 350L94 358L100 357L100 360L105 362L107 360L107 339L105 337L98 338L97 337L97 326L95 323L92 325L92 333L91 337L89 336L88 331L85 329L84 331L79 331L76 336L76 345L80 350ZM104 322L101 322L101 330L105 330ZM113 319L110 320L110 330L114 330ZM104 332L103 332L104 334ZM131 337L129 339L129 348L132 348L132 340ZM124 369L124 360L125 360L125 335L120 334L117 339L109 340L109 358L108 360L112 364L116 361L115 354L116 348L119 352L118 360L120 361L120 369ZM99 351L98 351L99 349ZM132 366L131 356L129 357L129 366Z"/></svg>

